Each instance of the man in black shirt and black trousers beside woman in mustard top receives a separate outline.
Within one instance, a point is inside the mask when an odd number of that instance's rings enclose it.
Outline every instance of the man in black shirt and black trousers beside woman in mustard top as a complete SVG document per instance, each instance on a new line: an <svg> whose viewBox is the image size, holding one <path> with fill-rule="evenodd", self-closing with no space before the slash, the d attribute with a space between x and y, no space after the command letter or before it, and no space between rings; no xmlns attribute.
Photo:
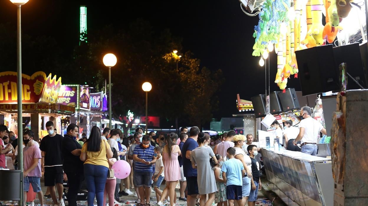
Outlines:
<svg viewBox="0 0 368 206"><path fill-rule="evenodd" d="M68 177L68 205L77 205L77 195L84 180L83 162L79 159L82 146L77 142L78 126L70 124L62 143L63 167Z"/></svg>

